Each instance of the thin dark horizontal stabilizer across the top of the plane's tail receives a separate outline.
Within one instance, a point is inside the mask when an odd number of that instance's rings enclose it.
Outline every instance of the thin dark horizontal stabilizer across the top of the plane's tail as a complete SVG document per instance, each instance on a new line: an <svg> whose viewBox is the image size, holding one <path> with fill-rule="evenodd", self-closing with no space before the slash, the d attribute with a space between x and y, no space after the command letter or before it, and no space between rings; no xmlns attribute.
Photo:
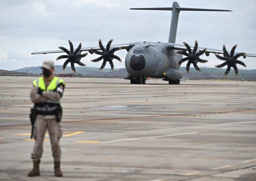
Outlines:
<svg viewBox="0 0 256 181"><path fill-rule="evenodd" d="M162 10L162 11L172 11L172 7L167 8L130 8L130 10ZM182 8L176 7L178 11L231 11L231 10L215 10L215 9L201 9L201 8Z"/></svg>

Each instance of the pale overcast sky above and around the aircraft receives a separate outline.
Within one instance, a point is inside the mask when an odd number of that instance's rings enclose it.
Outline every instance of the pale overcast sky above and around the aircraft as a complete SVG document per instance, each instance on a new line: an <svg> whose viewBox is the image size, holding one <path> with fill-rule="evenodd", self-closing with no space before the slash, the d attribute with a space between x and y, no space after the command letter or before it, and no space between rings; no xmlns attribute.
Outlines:
<svg viewBox="0 0 256 181"><path fill-rule="evenodd" d="M228 50L237 44L236 51L256 54L255 0L179 0L180 7L227 9L232 12L181 11L176 43L183 41L194 46ZM137 41L168 42L171 11L129 10L139 7L171 7L170 0L1 0L0 1L0 69L14 70L41 66L44 60L56 60L61 54L31 55L36 51L69 48L71 40L76 48ZM124 68L126 50L115 52L123 62L114 60L115 68ZM81 62L100 67L102 62L90 60L99 55L88 54ZM213 67L223 63L214 55L199 67ZM256 69L256 58L243 61L246 69ZM65 59L55 61L62 65ZM183 63L182 66L185 66ZM68 64L70 66L70 64ZM76 65L77 67L78 65ZM238 69L244 69L238 65ZM110 68L109 64L106 68Z"/></svg>

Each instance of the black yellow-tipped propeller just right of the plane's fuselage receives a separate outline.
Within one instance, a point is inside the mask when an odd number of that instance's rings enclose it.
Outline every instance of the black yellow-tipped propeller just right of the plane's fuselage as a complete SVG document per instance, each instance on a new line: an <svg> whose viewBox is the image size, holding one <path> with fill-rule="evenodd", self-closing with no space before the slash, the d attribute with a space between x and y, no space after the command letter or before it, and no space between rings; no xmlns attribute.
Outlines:
<svg viewBox="0 0 256 181"><path fill-rule="evenodd" d="M183 55L187 56L180 60L180 62L178 63L178 66L180 66L180 64L182 62L185 62L188 60L187 67L186 67L186 70L188 73L189 73L189 67L190 67L191 63L194 65L195 69L197 69L198 71L201 71L201 69L199 69L197 67L197 62L202 62L202 63L208 62L208 60L202 60L199 58L200 55L204 54L204 52L206 51L206 48L204 48L204 50L198 52L197 51L198 45L197 45L197 41L196 41L195 47L192 52L191 48L189 47L189 45L186 42L183 42L183 44L187 47L188 53L185 51L177 51L176 52L176 54L183 54Z"/></svg>

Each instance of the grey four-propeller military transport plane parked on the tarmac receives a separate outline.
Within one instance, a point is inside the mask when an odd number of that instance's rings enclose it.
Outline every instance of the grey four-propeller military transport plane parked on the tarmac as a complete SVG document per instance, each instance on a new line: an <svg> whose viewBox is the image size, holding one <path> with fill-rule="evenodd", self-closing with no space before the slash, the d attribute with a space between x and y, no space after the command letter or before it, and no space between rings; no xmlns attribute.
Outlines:
<svg viewBox="0 0 256 181"><path fill-rule="evenodd" d="M129 79L132 84L145 84L148 77L152 78L162 78L165 81L168 81L169 84L180 84L182 81L182 76L178 71L182 62L188 61L186 69L189 72L189 67L191 64L194 65L195 69L201 71L198 68L197 62L207 62L208 60L202 60L199 58L200 55L206 54L209 56L210 53L214 53L217 58L225 61L224 63L217 65L215 67L224 67L227 65L227 70L223 74L224 76L228 74L231 67L234 68L236 75L238 75L238 69L236 64L241 64L244 67L246 65L244 62L237 60L238 57L246 56L256 57L256 54L245 54L240 52L235 52L235 45L231 51L227 51L225 45L223 45L223 51L217 49L203 48L198 47L197 41L195 46L191 47L186 42L183 42L184 45L176 44L176 33L178 26L178 19L180 11L230 11L230 10L213 10L213 9L199 9L199 8L183 8L177 2L172 3L172 7L167 8L131 8L131 10L164 10L172 11L171 27L168 42L133 42L112 45L113 40L110 40L106 47L104 47L99 40L99 47L88 47L81 48L82 44L80 43L78 48L74 51L73 44L69 42L70 49L64 47L59 47L60 50L55 51L44 51L44 52L33 52L31 54L49 54L49 53L60 53L65 52L67 55L61 55L57 58L67 58L63 64L63 70L66 68L68 62L71 64L71 68L74 72L75 66L78 65L85 66L84 63L80 62L82 57L85 57L88 53L81 54L83 51L88 51L89 53L99 54L100 57L97 59L91 60L92 62L98 62L103 59L102 66L100 69L103 69L107 62L110 63L111 69L113 70L114 64L113 59L116 59L121 62L121 59L114 55L114 52L121 49L127 50L127 55L125 57L125 68L128 72L128 75L125 79ZM100 51L101 50L101 51ZM218 55L223 54L223 57ZM185 55L185 58L183 58Z"/></svg>

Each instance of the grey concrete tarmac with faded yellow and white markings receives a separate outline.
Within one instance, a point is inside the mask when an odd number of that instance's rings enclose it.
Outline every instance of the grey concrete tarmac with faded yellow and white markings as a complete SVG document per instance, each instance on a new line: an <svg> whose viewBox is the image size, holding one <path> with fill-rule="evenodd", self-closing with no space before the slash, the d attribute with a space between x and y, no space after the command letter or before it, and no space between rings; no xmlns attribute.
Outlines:
<svg viewBox="0 0 256 181"><path fill-rule="evenodd" d="M256 83L64 78L61 169L32 168L32 81L0 77L0 180L255 181Z"/></svg>

